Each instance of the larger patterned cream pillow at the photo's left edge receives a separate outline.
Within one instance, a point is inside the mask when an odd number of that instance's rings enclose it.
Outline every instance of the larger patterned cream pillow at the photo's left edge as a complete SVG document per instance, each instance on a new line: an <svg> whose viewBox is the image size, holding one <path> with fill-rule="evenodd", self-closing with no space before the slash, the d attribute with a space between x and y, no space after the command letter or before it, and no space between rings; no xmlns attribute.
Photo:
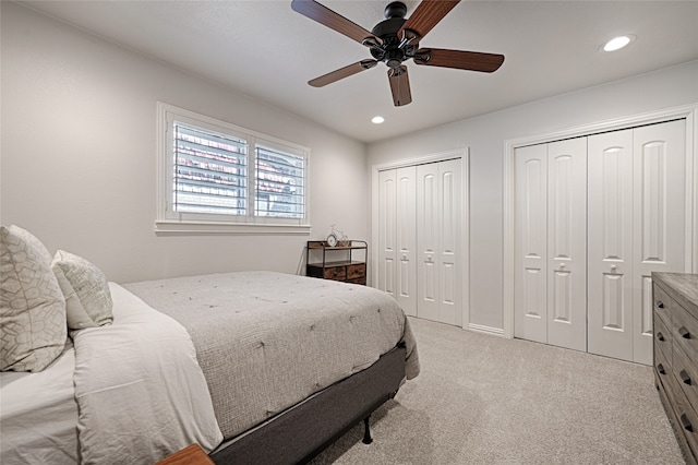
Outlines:
<svg viewBox="0 0 698 465"><path fill-rule="evenodd" d="M51 254L28 231L0 226L0 370L41 371L68 341Z"/></svg>

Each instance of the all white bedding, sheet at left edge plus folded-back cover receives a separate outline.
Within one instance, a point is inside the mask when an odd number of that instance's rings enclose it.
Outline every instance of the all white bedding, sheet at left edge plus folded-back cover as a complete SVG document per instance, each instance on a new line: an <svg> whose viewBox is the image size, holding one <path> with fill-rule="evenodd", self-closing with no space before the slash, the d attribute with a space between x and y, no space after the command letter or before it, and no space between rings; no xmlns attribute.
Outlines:
<svg viewBox="0 0 698 465"><path fill-rule="evenodd" d="M44 371L0 373L2 465L147 464L222 440L186 330L109 286L112 325L75 333Z"/></svg>

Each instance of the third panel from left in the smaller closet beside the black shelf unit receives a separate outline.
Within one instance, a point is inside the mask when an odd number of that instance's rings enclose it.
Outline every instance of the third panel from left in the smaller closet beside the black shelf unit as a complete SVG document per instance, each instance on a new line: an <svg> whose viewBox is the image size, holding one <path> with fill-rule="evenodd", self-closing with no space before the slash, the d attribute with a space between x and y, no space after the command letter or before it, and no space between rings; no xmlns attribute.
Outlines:
<svg viewBox="0 0 698 465"><path fill-rule="evenodd" d="M438 321L438 166L417 167L417 315Z"/></svg>

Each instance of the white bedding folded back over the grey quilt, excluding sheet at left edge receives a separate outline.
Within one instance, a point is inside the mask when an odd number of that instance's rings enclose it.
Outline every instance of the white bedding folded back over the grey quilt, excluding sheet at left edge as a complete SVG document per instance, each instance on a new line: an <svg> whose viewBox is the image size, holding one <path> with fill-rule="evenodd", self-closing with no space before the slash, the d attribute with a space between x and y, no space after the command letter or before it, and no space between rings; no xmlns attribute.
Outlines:
<svg viewBox="0 0 698 465"><path fill-rule="evenodd" d="M74 335L84 464L154 463L222 441L186 330L111 283L115 322ZM116 308L118 307L118 309Z"/></svg>

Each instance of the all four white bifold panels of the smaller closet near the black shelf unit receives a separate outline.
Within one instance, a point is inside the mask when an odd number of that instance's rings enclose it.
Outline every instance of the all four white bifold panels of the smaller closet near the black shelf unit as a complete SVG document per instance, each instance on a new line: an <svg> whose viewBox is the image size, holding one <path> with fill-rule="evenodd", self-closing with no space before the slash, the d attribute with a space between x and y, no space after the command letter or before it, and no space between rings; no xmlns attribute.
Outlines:
<svg viewBox="0 0 698 465"><path fill-rule="evenodd" d="M378 289L412 317L462 325L461 160L378 172Z"/></svg>

